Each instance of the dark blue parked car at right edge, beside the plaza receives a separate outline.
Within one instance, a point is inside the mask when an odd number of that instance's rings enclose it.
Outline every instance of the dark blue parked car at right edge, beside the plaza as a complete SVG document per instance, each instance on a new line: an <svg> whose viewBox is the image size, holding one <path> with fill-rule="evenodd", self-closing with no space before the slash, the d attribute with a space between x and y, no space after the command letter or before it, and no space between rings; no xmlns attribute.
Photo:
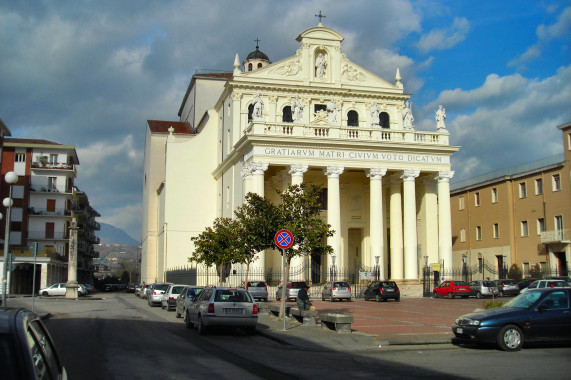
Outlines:
<svg viewBox="0 0 571 380"><path fill-rule="evenodd" d="M526 342L571 341L571 289L533 289L498 309L466 314L452 326L460 341L497 344L517 351Z"/></svg>

